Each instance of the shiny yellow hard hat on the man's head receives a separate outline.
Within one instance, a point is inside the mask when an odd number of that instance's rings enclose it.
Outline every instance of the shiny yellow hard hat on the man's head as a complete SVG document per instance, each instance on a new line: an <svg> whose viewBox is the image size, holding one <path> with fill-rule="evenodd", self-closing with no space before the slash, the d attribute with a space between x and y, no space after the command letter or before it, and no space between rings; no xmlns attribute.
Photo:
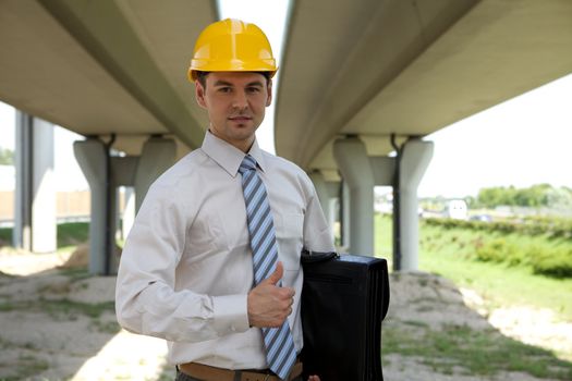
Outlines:
<svg viewBox="0 0 572 381"><path fill-rule="evenodd" d="M272 48L256 25L227 19L207 26L198 36L188 67L188 81L196 72L269 72L278 70Z"/></svg>

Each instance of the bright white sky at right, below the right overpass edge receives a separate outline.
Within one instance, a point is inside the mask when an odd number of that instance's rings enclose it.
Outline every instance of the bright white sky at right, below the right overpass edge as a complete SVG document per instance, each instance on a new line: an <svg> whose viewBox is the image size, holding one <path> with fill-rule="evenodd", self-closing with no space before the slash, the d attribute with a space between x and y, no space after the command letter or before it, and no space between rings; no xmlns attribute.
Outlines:
<svg viewBox="0 0 572 381"><path fill-rule="evenodd" d="M435 151L421 197L491 186L572 187L572 74L427 136Z"/></svg>

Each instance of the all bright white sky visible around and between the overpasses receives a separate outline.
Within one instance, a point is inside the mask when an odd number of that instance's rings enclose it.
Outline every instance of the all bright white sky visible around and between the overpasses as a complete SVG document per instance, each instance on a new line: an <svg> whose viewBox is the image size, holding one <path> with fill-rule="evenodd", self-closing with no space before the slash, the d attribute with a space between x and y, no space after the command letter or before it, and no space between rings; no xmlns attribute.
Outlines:
<svg viewBox="0 0 572 381"><path fill-rule="evenodd" d="M272 11L282 16L269 17L265 1L219 0L223 5L220 16L260 26L280 62L281 30L289 3L273 0ZM275 96L279 75L280 70L275 77ZM418 196L476 196L483 187L527 187L539 183L572 187L571 99L572 74L425 137L434 142L435 151ZM266 115L257 138L264 149L273 152L273 108L268 108ZM63 128L54 131L54 176L60 189L87 188L73 160L72 144L78 138ZM14 111L4 103L0 103L0 147L14 147ZM4 182L5 179L0 179L0 186Z"/></svg>

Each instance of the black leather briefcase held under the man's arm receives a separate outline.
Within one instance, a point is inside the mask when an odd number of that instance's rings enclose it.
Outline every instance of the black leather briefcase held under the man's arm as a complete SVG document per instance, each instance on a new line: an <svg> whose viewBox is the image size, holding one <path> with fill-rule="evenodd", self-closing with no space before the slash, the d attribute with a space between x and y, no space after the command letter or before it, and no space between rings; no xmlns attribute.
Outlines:
<svg viewBox="0 0 572 381"><path fill-rule="evenodd" d="M387 261L302 253L304 380L381 381L381 321L389 307Z"/></svg>

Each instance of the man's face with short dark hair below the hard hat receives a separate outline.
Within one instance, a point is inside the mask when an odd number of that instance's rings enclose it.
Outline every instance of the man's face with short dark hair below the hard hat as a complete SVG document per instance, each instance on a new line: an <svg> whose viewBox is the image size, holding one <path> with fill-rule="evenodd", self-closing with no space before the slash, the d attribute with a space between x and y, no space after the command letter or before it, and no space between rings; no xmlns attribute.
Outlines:
<svg viewBox="0 0 572 381"><path fill-rule="evenodd" d="M244 152L272 100L271 82L250 72L211 72L206 88L195 82L195 95L208 112L210 132Z"/></svg>

